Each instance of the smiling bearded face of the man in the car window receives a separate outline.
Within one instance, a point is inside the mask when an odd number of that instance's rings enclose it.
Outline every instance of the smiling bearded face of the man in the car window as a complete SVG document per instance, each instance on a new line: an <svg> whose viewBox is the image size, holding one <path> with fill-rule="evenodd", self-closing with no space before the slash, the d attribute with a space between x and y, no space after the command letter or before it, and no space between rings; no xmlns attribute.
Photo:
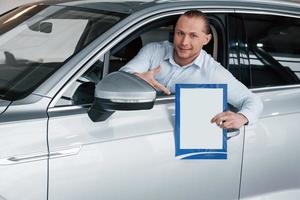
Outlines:
<svg viewBox="0 0 300 200"><path fill-rule="evenodd" d="M211 35L205 33L205 24L201 17L181 16L174 33L175 62L181 66L193 62L210 39Z"/></svg>

